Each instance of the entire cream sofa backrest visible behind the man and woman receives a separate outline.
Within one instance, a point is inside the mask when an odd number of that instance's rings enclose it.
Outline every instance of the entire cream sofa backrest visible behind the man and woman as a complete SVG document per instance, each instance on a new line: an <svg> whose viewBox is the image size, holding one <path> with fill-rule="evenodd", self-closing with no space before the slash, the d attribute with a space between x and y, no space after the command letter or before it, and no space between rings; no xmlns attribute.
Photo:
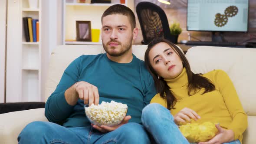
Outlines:
<svg viewBox="0 0 256 144"><path fill-rule="evenodd" d="M147 45L133 46L132 51L139 59L144 60ZM46 95L49 97L55 90L61 76L69 65L82 54L105 52L102 46L66 45L53 50L49 75L46 82ZM196 46L189 49L186 57L195 73L205 73L213 69L222 69L230 76L236 87L243 108L248 115L249 126L244 134L243 144L256 143L256 49L237 49L211 46Z"/></svg>

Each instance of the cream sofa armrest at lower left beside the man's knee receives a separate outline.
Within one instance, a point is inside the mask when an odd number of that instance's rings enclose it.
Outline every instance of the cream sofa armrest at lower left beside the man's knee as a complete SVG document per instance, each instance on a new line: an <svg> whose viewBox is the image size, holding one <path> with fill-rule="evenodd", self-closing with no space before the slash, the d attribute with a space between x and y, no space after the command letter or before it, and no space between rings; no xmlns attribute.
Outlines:
<svg viewBox="0 0 256 144"><path fill-rule="evenodd" d="M33 121L48 121L44 108L14 111L0 115L1 144L17 144L17 137L27 124Z"/></svg>

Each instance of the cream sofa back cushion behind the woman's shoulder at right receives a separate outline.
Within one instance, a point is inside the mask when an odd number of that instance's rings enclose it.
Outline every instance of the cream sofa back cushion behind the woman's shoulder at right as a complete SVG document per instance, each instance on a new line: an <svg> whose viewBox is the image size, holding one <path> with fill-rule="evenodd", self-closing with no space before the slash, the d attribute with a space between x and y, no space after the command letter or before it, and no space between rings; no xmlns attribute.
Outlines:
<svg viewBox="0 0 256 144"><path fill-rule="evenodd" d="M246 114L256 116L256 49L195 46L187 51L186 57L194 73L224 70Z"/></svg>

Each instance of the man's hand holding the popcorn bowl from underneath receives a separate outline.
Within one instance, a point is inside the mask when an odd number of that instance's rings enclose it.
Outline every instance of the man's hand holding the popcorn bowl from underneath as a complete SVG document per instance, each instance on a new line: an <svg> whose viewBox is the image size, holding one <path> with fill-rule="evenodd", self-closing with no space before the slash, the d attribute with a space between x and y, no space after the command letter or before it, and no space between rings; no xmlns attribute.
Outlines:
<svg viewBox="0 0 256 144"><path fill-rule="evenodd" d="M123 121L120 124L118 124L117 126L114 126L114 127L108 127L108 126L105 126L105 125L97 126L97 125L94 125L94 124L92 124L92 127L97 129L98 131L100 131L102 133L106 133L106 132L109 132L109 131L114 131L115 129L119 128L123 124L127 124L130 119L131 119L131 116L128 115L123 119Z"/></svg>

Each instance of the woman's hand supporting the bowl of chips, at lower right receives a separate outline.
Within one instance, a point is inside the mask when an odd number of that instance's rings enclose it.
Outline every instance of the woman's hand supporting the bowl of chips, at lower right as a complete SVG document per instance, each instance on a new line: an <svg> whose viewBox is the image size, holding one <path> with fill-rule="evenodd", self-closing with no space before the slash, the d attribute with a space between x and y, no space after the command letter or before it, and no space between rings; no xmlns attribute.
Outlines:
<svg viewBox="0 0 256 144"><path fill-rule="evenodd" d="M219 133L210 141L200 142L198 144L223 144L230 141L234 141L234 132L232 130L223 129L218 124L216 124L215 126L218 129Z"/></svg>

